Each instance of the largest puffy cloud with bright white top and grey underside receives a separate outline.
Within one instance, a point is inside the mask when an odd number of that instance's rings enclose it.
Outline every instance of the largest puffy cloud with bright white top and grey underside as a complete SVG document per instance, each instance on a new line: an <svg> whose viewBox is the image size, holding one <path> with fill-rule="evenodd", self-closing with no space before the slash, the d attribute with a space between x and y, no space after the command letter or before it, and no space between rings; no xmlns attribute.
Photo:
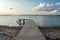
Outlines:
<svg viewBox="0 0 60 40"><path fill-rule="evenodd" d="M40 3L38 6L34 7L32 10L33 11L51 11L51 10L55 10L53 6L54 4Z"/></svg>

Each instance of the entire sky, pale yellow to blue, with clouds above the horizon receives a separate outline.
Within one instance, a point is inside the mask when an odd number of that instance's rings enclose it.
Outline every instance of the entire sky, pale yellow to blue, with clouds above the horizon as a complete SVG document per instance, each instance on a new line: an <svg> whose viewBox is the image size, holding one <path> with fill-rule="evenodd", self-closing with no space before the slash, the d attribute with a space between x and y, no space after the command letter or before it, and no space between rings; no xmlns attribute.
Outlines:
<svg viewBox="0 0 60 40"><path fill-rule="evenodd" d="M60 15L60 0L0 0L0 15Z"/></svg>

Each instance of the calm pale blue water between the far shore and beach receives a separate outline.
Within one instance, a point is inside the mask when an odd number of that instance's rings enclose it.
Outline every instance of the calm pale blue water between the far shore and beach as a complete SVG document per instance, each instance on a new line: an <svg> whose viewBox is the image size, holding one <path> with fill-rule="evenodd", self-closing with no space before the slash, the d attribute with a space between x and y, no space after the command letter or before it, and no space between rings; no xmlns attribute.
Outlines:
<svg viewBox="0 0 60 40"><path fill-rule="evenodd" d="M60 26L60 15L7 15L0 16L0 25L20 26L19 19L32 19L37 26Z"/></svg>

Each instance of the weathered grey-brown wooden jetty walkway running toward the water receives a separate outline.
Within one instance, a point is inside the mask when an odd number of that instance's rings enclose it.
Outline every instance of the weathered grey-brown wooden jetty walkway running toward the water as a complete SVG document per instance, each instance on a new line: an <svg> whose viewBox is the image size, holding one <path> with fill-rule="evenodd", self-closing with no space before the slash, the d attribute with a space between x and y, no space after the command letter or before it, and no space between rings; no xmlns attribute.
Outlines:
<svg viewBox="0 0 60 40"><path fill-rule="evenodd" d="M16 40L46 40L33 20L27 20L26 24L16 36Z"/></svg>

